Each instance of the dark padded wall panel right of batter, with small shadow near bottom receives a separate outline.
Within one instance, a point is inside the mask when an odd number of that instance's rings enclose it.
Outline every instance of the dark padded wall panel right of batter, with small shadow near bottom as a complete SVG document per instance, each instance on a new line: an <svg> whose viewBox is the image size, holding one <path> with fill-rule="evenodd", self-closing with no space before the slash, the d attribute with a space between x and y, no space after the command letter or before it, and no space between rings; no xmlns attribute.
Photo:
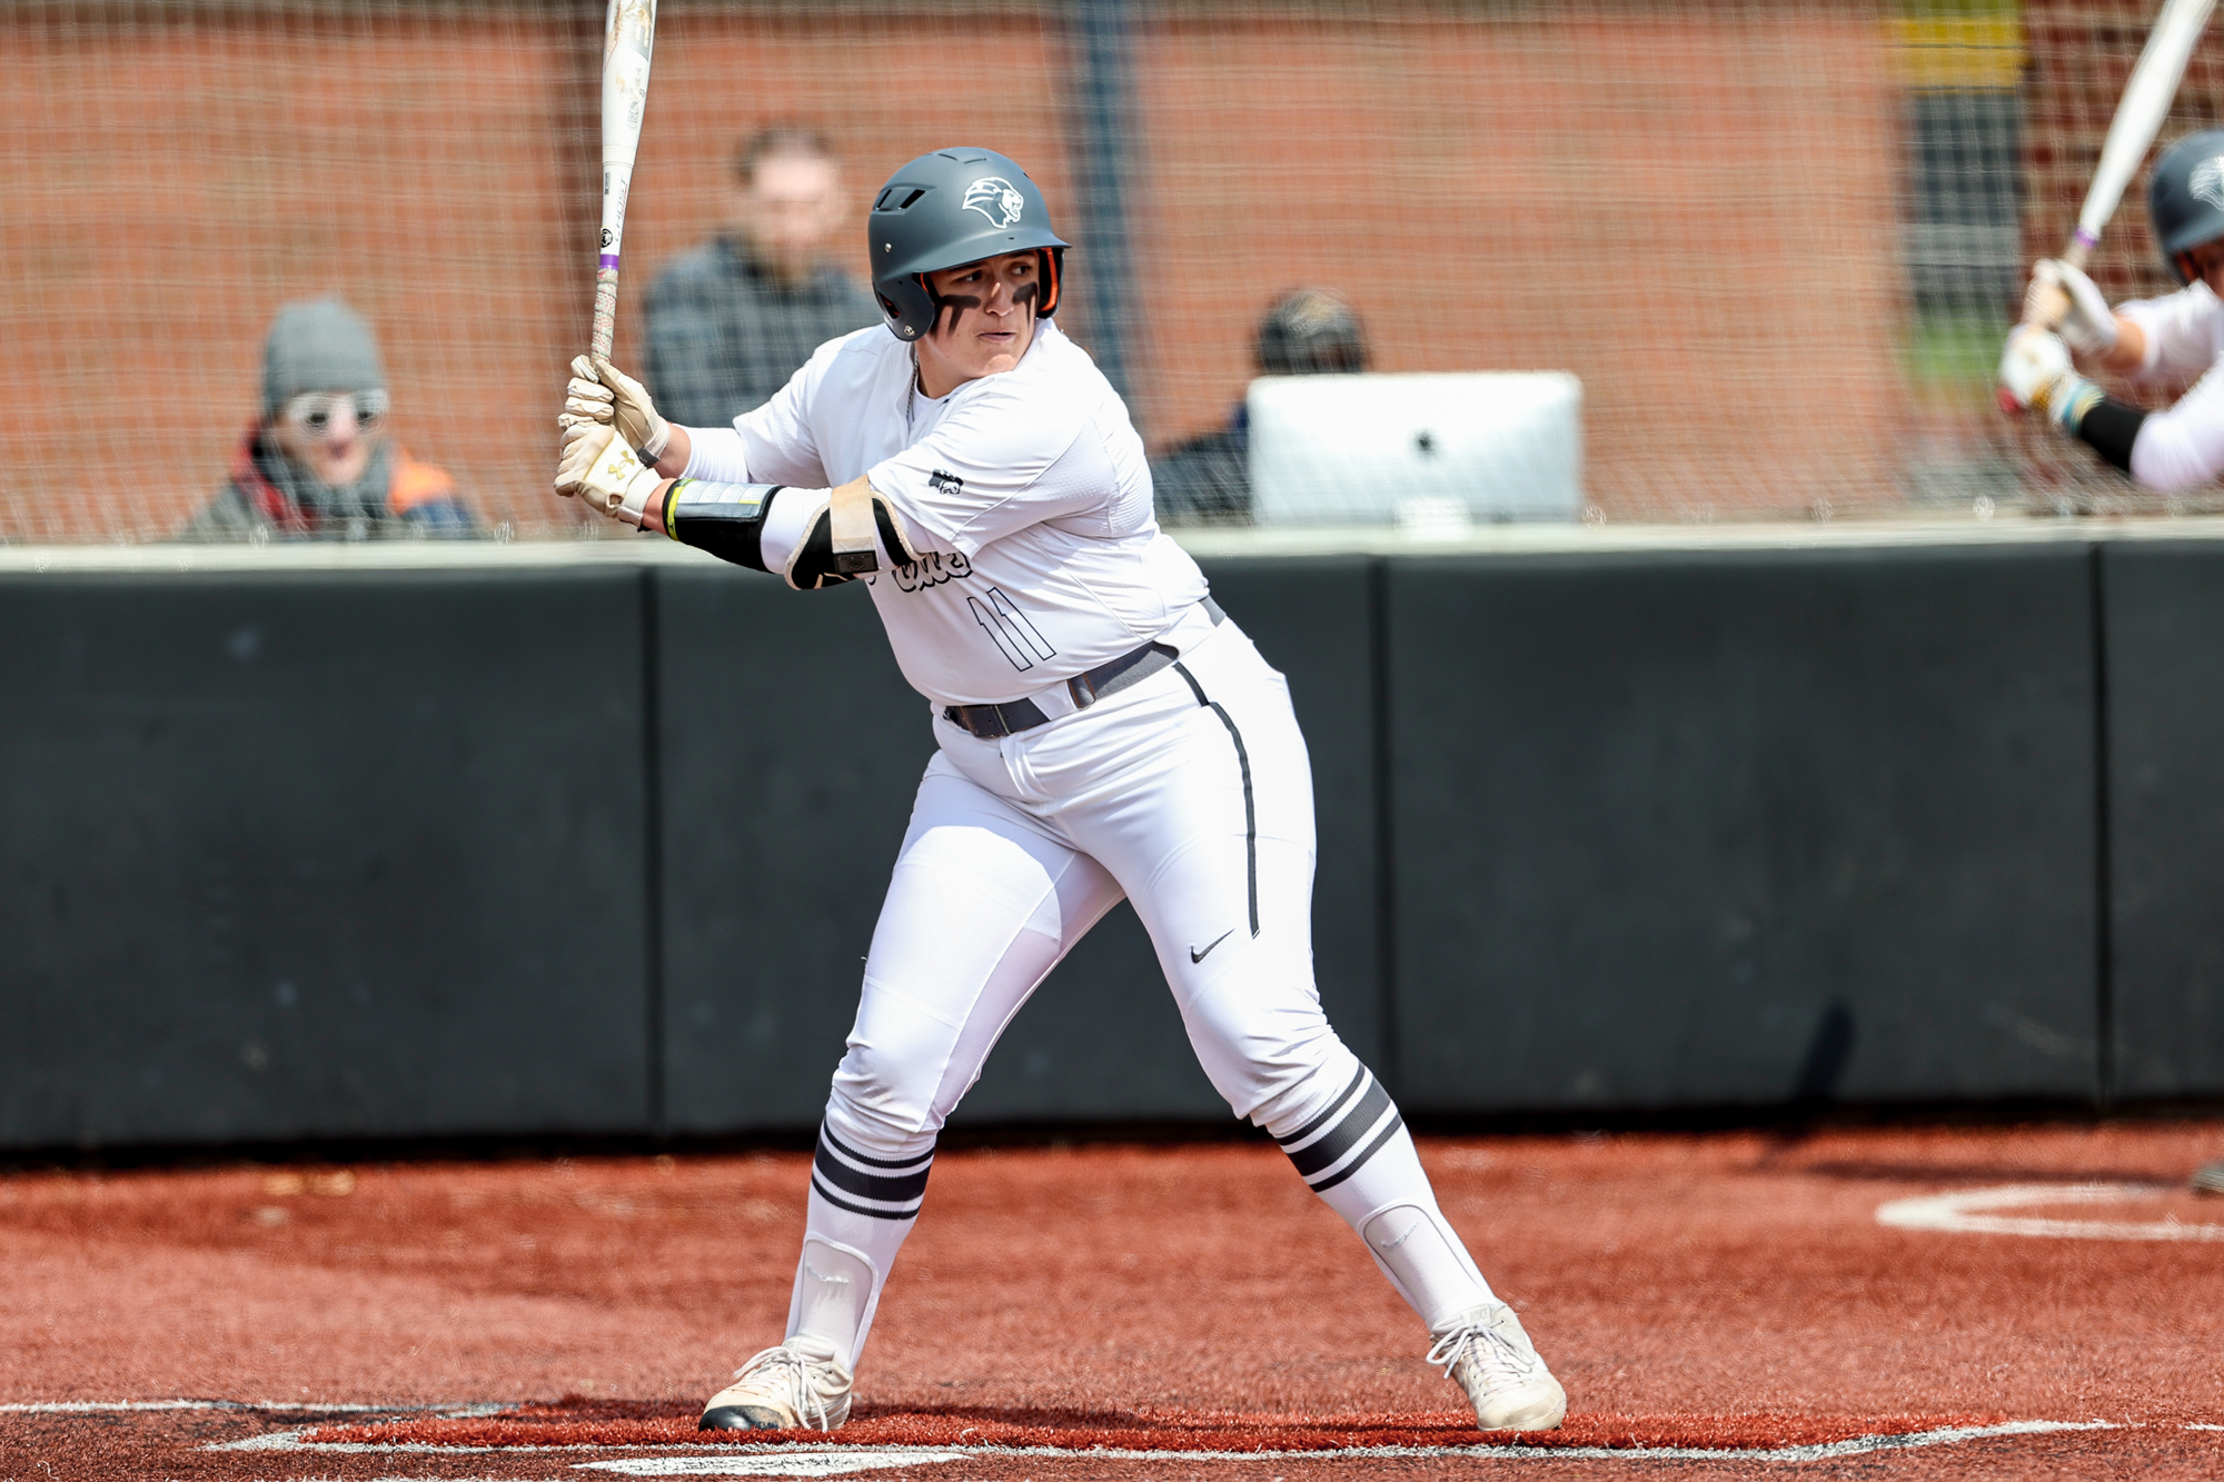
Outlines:
<svg viewBox="0 0 2224 1482"><path fill-rule="evenodd" d="M1406 1106L2091 1097L2088 561L1392 561Z"/></svg>

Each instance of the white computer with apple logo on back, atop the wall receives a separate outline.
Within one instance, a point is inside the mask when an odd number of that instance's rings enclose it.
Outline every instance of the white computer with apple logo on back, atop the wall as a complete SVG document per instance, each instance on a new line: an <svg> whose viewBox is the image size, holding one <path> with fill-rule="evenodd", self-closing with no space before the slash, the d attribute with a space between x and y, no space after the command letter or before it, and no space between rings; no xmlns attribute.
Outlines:
<svg viewBox="0 0 2224 1482"><path fill-rule="evenodd" d="M1583 383L1568 372L1261 376L1252 518L1454 532L1583 512Z"/></svg>

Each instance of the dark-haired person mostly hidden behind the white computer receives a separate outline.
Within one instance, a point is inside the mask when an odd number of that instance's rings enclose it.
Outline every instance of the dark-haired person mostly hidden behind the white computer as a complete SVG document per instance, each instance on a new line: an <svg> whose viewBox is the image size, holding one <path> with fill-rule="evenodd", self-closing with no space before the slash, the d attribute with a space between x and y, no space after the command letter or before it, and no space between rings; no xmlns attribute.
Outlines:
<svg viewBox="0 0 2224 1482"><path fill-rule="evenodd" d="M1252 365L1261 376L1363 372L1359 316L1328 289L1283 294L1259 320ZM1250 423L1237 403L1228 425L1190 438L1150 467L1152 501L1170 523L1250 521Z"/></svg>

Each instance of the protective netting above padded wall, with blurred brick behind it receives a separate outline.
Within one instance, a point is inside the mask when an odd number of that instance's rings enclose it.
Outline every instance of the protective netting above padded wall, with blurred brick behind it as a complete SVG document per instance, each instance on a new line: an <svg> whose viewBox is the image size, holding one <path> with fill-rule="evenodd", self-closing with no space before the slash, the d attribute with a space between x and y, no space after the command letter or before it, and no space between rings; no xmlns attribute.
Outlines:
<svg viewBox="0 0 2224 1482"><path fill-rule="evenodd" d="M1163 452L1254 329L1346 296L1372 367L1570 369L1590 518L2162 510L2010 425L1997 358L2066 240L2153 0L665 0L625 238L721 227L741 136L827 134L856 196L1012 154L1079 243L1063 323ZM394 436L489 532L547 492L592 307L600 0L7 7L0 541L153 541L225 483L278 305L340 294ZM2204 45L2164 138L2217 118ZM2173 287L2142 176L2095 258Z"/></svg>

